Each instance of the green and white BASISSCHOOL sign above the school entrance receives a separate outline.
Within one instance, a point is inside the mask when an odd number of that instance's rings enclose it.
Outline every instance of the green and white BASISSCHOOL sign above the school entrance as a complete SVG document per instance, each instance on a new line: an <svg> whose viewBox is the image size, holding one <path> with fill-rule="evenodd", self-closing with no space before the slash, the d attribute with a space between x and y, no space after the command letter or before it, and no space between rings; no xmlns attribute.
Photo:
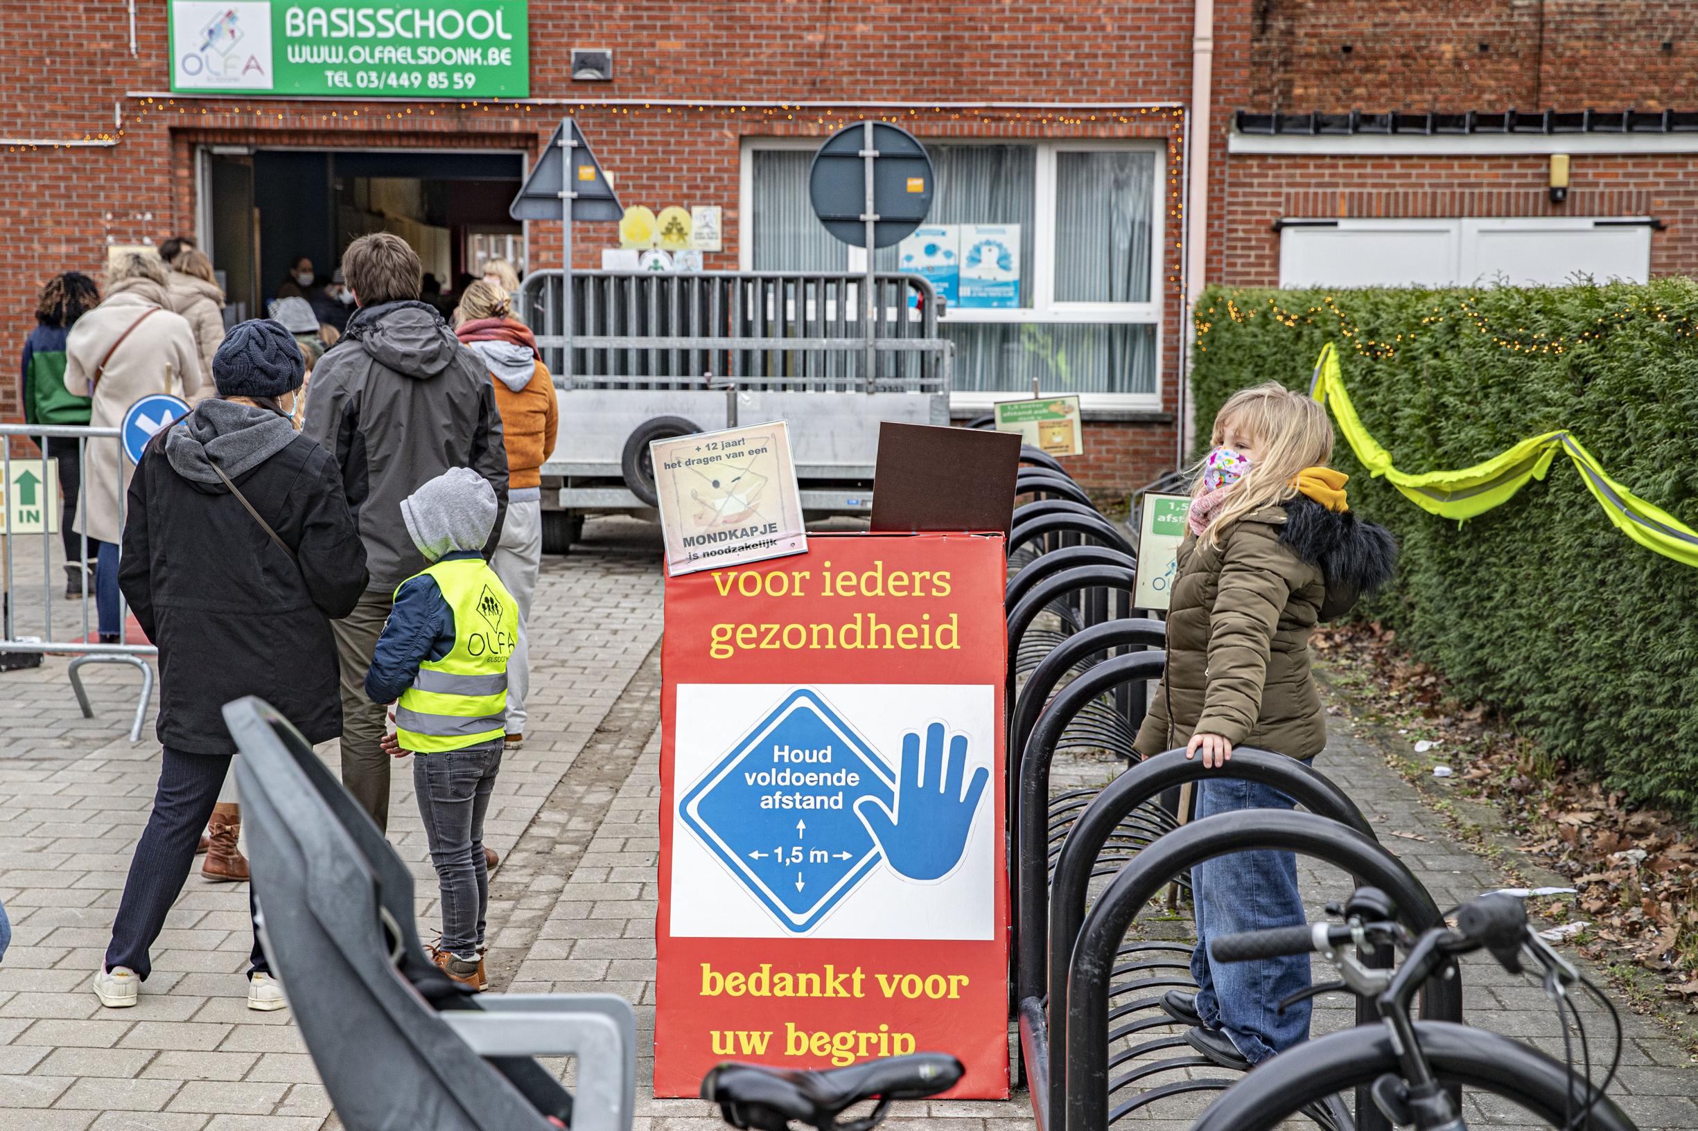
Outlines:
<svg viewBox="0 0 1698 1131"><path fill-rule="evenodd" d="M526 0L171 0L171 90L523 98Z"/></svg>

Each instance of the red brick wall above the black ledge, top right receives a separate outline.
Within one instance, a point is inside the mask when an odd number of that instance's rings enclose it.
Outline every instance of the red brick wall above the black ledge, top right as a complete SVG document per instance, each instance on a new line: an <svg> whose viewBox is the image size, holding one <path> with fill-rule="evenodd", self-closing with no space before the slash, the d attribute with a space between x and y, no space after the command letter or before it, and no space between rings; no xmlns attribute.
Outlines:
<svg viewBox="0 0 1698 1131"><path fill-rule="evenodd" d="M1243 109L1691 109L1690 0L1251 0ZM1664 47L1667 44L1667 47Z"/></svg>

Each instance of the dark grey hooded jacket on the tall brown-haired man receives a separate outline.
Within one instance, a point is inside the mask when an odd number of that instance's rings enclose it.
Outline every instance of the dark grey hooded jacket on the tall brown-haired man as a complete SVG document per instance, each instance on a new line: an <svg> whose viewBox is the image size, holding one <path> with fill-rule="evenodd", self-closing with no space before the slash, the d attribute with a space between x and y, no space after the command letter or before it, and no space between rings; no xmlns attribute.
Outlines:
<svg viewBox="0 0 1698 1131"><path fill-rule="evenodd" d="M494 549L508 502L501 412L484 359L423 302L362 307L312 368L302 434L341 468L360 524L370 590L389 597L424 568L401 500L448 468L470 468L496 495L496 521L477 549Z"/></svg>

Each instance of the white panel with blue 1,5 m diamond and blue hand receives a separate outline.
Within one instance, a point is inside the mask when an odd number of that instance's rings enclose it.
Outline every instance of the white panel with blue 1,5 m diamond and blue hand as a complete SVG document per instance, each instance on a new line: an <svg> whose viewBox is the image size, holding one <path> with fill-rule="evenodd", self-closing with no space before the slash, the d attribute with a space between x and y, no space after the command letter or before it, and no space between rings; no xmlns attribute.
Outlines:
<svg viewBox="0 0 1698 1131"><path fill-rule="evenodd" d="M672 934L988 939L995 692L681 683Z"/></svg>

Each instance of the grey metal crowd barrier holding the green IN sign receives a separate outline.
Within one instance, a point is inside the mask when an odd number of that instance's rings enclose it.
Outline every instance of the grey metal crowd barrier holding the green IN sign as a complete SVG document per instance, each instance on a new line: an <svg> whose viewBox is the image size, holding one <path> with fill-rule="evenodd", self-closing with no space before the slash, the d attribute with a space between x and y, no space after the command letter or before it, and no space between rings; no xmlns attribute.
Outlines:
<svg viewBox="0 0 1698 1131"><path fill-rule="evenodd" d="M119 444L121 434L121 429L115 427L0 424L0 475L3 475L0 483L3 483L7 492L3 548L5 612L3 617L0 617L0 653L71 655L73 660L66 675L70 675L71 690L76 694L76 705L82 707L85 719L95 717L93 705L88 700L88 692L82 680L82 670L87 665L122 663L141 668L141 695L136 700L136 714L129 727L129 741L136 743L141 739L141 724L148 716L148 702L153 697L153 665L148 663L148 656L156 656L160 649L153 644L131 644L127 641L124 626L129 621L129 604L124 600L122 592L119 593L119 643L100 643L97 632L98 619L93 610L93 571L85 571L83 595L80 599L63 595L54 599L56 585L65 583L65 554L61 549L63 536L59 534L59 527L61 524L75 524L73 529L82 527L82 519L88 509L88 492L97 487L90 480L90 443ZM14 444L20 437L32 441L36 448L41 449L41 456L31 458L14 454ZM56 460L56 456L48 454L49 439L76 441L76 461L82 470L78 478L82 487L75 514L61 514L58 495L48 495L49 485L59 482L56 471L53 475L46 473L48 465ZM41 463L42 466L42 475L36 476L39 483L31 485L41 492L41 505L34 509L27 507L22 499L12 499L14 490L20 492L20 495L24 490L14 480L14 470L24 460ZM119 529L124 526L124 509L127 502L122 482L124 463L126 458L122 451L119 451L119 482L115 485ZM24 478L29 473L31 468L25 466L19 471L19 476ZM104 483L98 487L112 488L114 485ZM41 529L19 532L15 527L24 526L24 517L34 517L29 526L39 526ZM90 549L95 543L92 543L87 534L80 534L76 544L82 553L82 561L90 561L93 558ZM39 577L36 575L37 568L41 571ZM54 605L58 605L58 609Z"/></svg>

